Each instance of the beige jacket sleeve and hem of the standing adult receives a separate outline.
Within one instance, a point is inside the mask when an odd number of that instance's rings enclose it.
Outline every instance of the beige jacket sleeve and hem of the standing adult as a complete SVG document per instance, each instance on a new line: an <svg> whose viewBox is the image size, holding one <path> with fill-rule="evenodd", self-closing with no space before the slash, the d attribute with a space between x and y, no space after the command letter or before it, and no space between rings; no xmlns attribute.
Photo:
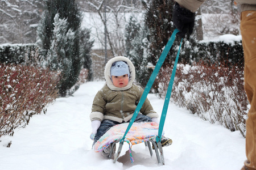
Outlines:
<svg viewBox="0 0 256 170"><path fill-rule="evenodd" d="M191 12L196 12L201 4L205 0L175 0L179 3L180 6L191 10ZM236 0L238 5L241 5L241 12L242 11L250 11L256 10L256 1L255 0Z"/></svg>

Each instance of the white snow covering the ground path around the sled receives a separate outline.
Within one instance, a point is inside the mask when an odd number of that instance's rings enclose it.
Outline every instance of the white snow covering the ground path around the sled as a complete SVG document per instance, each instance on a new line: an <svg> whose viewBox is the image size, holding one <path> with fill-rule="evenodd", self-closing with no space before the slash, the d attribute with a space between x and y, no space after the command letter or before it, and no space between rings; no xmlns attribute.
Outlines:
<svg viewBox="0 0 256 170"><path fill-rule="evenodd" d="M92 150L89 136L89 113L96 92L104 82L82 84L70 97L56 99L46 114L34 115L26 128L17 128L13 137L0 141L0 169L240 169L245 156L245 139L210 124L170 103L165 136L173 144L164 147L166 165L160 166L156 156L150 158L142 144L132 147L134 164L130 163L129 145L124 144L117 163L105 160ZM162 112L164 100L149 94L155 111ZM11 147L3 147L12 141Z"/></svg>

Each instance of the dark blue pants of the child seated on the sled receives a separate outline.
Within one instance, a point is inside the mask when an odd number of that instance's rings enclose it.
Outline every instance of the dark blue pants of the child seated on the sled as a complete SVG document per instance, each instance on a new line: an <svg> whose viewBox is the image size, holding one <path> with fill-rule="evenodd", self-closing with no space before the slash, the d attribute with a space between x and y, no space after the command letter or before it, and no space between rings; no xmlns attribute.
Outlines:
<svg viewBox="0 0 256 170"><path fill-rule="evenodd" d="M137 117L135 118L134 122L152 122L151 118L148 116L145 116L143 114L138 114ZM106 133L106 131L108 131L110 128L112 128L112 126L118 125L118 124L122 124L119 122L115 122L112 120L103 120L101 122L100 127L97 130L97 133L95 134L95 137L93 139L93 145L94 143L96 143L98 141L98 139L100 139L102 137L102 135L104 135Z"/></svg>

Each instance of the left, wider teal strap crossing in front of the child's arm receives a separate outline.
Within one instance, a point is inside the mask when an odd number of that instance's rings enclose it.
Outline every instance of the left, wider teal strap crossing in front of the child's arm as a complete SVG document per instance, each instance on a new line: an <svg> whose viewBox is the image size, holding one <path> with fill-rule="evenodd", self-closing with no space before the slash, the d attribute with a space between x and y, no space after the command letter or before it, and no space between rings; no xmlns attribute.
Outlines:
<svg viewBox="0 0 256 170"><path fill-rule="evenodd" d="M172 44L174 44L174 40L175 40L175 36L176 36L176 33L177 33L177 32L179 32L179 30L178 30L178 29L175 29L174 32L172 33L170 39L168 40L168 42L167 42L167 44L166 44L166 47L165 47L164 50L163 50L163 53L162 53L161 56L159 57L159 60L158 60L158 62L156 63L155 69L154 69L153 73L151 74L150 79L149 79L148 82L147 82L147 85L146 85L146 87L145 87L145 89L144 89L144 92L143 92L143 94L142 94L142 96L141 96L141 99L139 100L139 103L138 103L138 105L137 105L137 108L136 108L135 111L134 111L133 117L131 117L130 123L129 123L129 125L128 125L126 131L125 131L125 134L123 135L123 138L120 140L120 143L123 144L123 141L125 140L126 134L127 134L128 131L130 130L131 125L133 125L133 122L134 122L135 118L137 117L139 111L141 110L142 105L143 105L144 101L145 101L146 98L147 98L147 94L148 94L148 92L150 92L150 89L151 89L151 87L152 87L152 84L154 83L155 78L156 78L156 76L158 75L158 72L159 72L161 66L163 65L164 59L166 59L166 56L167 56L167 54L169 53L169 51L170 51L170 49L171 49L171 47L172 47Z"/></svg>

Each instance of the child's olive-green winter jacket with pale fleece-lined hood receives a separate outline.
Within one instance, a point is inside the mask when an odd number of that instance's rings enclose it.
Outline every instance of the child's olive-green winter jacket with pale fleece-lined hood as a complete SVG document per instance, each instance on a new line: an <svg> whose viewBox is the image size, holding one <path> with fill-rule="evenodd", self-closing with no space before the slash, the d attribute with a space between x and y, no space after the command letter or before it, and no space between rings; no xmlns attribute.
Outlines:
<svg viewBox="0 0 256 170"><path fill-rule="evenodd" d="M130 79L126 87L118 88L113 85L110 79L110 68L115 61L126 61L129 65ZM135 79L135 69L130 59L126 57L114 57L105 67L105 86L97 92L93 100L90 120L113 120L117 122L127 122L133 117L139 99L143 94L143 89L133 84ZM150 101L146 99L141 108L141 113L150 118L158 117L158 113L152 108Z"/></svg>

